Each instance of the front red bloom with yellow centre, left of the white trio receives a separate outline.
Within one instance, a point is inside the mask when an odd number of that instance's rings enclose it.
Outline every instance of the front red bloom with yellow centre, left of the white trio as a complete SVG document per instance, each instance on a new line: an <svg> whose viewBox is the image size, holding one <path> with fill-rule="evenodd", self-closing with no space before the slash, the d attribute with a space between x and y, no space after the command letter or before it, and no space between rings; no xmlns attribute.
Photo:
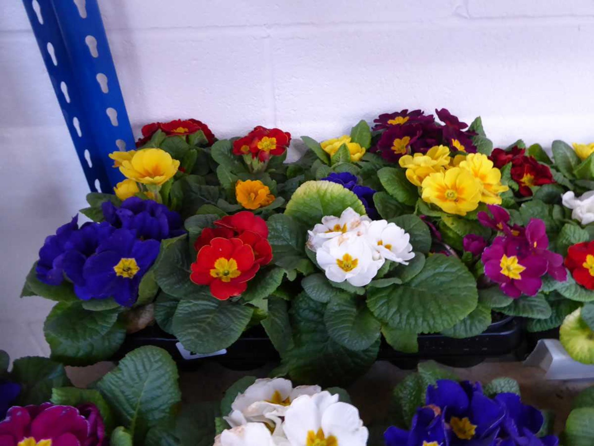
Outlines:
<svg viewBox="0 0 594 446"><path fill-rule="evenodd" d="M216 299L227 300L246 290L260 263L255 261L252 247L239 238L215 237L200 249L191 269L192 282L210 285Z"/></svg>

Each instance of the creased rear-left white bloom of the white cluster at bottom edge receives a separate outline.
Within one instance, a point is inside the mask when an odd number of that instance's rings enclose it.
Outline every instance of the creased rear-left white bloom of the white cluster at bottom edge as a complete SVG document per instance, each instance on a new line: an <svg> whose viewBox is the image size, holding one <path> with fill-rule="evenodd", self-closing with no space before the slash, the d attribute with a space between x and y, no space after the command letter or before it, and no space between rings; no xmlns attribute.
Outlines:
<svg viewBox="0 0 594 446"><path fill-rule="evenodd" d="M285 378L256 379L243 393L238 394L231 404L231 413L224 417L233 428L248 422L264 422L278 431L279 416L285 414L287 406L300 395L313 395L321 391L318 385L302 385L293 388Z"/></svg>

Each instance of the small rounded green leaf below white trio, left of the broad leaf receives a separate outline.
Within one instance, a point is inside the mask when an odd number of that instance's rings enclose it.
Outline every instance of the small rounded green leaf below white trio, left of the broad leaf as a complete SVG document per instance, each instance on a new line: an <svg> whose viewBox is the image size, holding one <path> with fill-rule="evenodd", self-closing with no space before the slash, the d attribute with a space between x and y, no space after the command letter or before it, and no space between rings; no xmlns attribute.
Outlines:
<svg viewBox="0 0 594 446"><path fill-rule="evenodd" d="M349 350L365 350L380 338L380 322L358 297L334 297L324 312L330 337Z"/></svg>

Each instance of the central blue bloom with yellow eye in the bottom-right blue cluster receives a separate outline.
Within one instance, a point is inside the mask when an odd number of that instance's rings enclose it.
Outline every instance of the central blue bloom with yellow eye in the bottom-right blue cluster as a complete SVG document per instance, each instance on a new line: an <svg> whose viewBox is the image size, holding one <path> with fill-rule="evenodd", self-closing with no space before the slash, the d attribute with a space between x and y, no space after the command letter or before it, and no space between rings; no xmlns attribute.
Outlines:
<svg viewBox="0 0 594 446"><path fill-rule="evenodd" d="M483 394L481 384L440 379L429 386L426 404L444 412L452 446L491 446L505 417L505 407Z"/></svg>

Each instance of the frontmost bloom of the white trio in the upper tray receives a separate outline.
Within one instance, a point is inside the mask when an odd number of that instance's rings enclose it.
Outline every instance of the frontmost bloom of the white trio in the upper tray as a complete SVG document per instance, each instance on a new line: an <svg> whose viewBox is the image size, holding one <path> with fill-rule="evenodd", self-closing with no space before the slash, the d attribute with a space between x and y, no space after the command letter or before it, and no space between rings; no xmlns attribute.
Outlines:
<svg viewBox="0 0 594 446"><path fill-rule="evenodd" d="M371 282L384 264L383 258L374 259L373 254L365 237L346 233L325 241L315 259L329 280L346 280L355 287L362 287Z"/></svg>

